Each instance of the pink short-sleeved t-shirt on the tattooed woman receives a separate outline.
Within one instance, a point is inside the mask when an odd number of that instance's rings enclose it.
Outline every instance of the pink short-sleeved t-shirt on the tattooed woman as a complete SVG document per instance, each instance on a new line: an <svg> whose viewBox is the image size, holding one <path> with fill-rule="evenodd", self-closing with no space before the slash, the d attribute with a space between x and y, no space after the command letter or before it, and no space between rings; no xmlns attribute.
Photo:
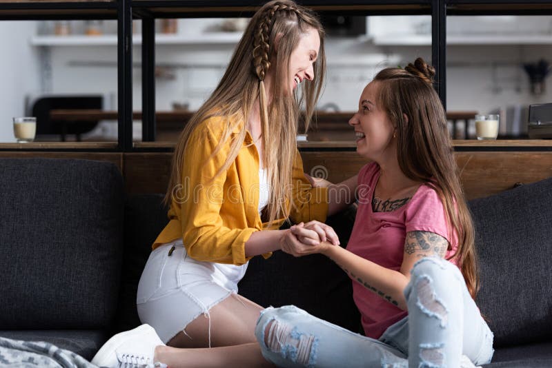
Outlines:
<svg viewBox="0 0 552 368"><path fill-rule="evenodd" d="M391 212L373 212L371 203L378 178L377 163L368 163L359 172L359 206L347 249L382 267L400 271L406 232L417 230L446 238L453 248L446 258L452 256L457 236L455 232L449 236L444 206L437 192L428 185L420 185L406 205ZM353 298L362 316L364 333L371 338L380 338L389 326L408 314L355 279Z"/></svg>

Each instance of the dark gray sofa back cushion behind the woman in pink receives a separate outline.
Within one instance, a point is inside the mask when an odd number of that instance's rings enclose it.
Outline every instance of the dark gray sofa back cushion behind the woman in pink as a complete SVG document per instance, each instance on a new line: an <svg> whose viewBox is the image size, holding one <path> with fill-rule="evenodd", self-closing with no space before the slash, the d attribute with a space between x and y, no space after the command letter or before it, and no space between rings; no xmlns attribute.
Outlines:
<svg viewBox="0 0 552 368"><path fill-rule="evenodd" d="M469 203L495 347L552 337L552 178Z"/></svg>

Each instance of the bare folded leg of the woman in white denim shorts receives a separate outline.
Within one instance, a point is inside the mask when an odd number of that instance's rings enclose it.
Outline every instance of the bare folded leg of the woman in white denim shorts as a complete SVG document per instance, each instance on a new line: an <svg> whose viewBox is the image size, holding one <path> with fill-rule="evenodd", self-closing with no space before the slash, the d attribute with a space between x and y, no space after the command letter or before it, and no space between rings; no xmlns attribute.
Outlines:
<svg viewBox="0 0 552 368"><path fill-rule="evenodd" d="M274 367L255 338L262 307L232 294L186 326L168 346L155 349L155 361L178 367ZM209 334L210 331L210 334ZM210 339L210 346L208 348ZM193 349L192 349L193 348Z"/></svg>

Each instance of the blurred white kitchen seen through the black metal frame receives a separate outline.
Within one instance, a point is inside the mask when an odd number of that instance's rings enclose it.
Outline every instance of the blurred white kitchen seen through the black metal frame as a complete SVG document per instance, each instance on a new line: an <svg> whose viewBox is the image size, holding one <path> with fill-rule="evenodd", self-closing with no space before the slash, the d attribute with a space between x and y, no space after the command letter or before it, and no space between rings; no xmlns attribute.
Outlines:
<svg viewBox="0 0 552 368"><path fill-rule="evenodd" d="M429 16L323 21L328 73L320 110L352 112L378 70L418 56L431 61ZM197 109L224 72L245 24L246 19L157 20L157 111ZM103 110L116 110L116 27L115 21L0 22L0 141L13 141L12 116L32 114L43 96L97 94ZM139 111L139 21L134 28L133 109ZM526 72L552 62L552 17L447 17L446 57L447 110L500 112L501 136L523 137L529 104L552 102L552 79L533 75L531 82ZM451 125L456 138L466 137L463 124ZM467 138L473 138L469 124ZM139 121L134 135L141 138ZM83 139L115 141L117 123L102 121Z"/></svg>

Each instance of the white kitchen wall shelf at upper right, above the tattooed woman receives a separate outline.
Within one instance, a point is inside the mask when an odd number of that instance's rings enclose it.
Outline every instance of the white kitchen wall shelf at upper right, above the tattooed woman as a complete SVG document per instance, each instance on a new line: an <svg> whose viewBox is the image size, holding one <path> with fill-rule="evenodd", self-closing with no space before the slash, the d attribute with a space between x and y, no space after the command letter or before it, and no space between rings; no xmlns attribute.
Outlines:
<svg viewBox="0 0 552 368"><path fill-rule="evenodd" d="M380 46L429 46L429 34L389 34L372 38ZM446 37L447 45L552 45L552 34L477 34L451 35Z"/></svg>

